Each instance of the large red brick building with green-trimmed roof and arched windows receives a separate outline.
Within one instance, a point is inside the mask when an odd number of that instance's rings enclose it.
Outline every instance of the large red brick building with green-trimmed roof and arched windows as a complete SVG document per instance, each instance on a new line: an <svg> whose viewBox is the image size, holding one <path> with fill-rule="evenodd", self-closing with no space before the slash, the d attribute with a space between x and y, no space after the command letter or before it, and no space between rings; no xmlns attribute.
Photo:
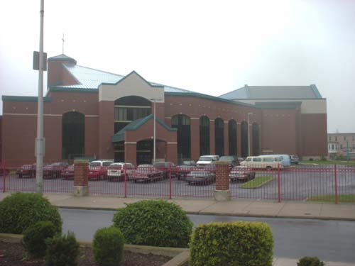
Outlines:
<svg viewBox="0 0 355 266"><path fill-rule="evenodd" d="M2 101L2 159L11 165L34 162L37 97ZM217 97L148 82L134 71L122 76L82 67L58 55L48 58L44 160L151 162L154 106L157 160L327 156L326 99L315 85L246 85Z"/></svg>

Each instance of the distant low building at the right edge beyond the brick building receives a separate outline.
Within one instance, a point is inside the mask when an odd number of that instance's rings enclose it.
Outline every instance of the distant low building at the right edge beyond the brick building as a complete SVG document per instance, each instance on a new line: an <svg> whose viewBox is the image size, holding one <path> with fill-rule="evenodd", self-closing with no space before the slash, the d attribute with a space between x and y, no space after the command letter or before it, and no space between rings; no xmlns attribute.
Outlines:
<svg viewBox="0 0 355 266"><path fill-rule="evenodd" d="M328 155L355 159L355 133L328 133Z"/></svg>

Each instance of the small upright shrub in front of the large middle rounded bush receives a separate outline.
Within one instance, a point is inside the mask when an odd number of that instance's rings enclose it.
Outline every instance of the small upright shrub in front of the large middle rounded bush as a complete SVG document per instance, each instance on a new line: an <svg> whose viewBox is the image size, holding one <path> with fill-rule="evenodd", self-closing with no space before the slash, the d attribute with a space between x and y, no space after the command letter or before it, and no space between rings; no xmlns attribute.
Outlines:
<svg viewBox="0 0 355 266"><path fill-rule="evenodd" d="M101 228L94 235L92 251L98 265L120 265L124 256L124 235L114 226Z"/></svg>

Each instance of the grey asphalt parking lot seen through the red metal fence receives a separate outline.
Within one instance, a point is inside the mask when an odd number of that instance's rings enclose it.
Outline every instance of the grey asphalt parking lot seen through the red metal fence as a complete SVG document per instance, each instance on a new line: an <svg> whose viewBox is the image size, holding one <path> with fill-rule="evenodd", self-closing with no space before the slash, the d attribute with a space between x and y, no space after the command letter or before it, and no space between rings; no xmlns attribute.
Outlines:
<svg viewBox="0 0 355 266"><path fill-rule="evenodd" d="M231 182L231 196L241 199L271 199L304 201L315 196L323 198L349 195L355 201L355 167L334 165L298 165L287 170L256 171L258 177L272 177L260 187L245 189L244 182ZM335 185L337 184L337 186ZM280 185L280 186L279 186ZM43 192L72 193L72 180L45 179ZM279 189L280 187L280 189ZM35 192L34 178L18 178L8 174L0 177L1 192ZM215 184L187 184L177 178L156 182L108 182L107 180L89 181L89 194L116 195L147 198L196 198L212 199ZM352 200L351 200L352 199Z"/></svg>

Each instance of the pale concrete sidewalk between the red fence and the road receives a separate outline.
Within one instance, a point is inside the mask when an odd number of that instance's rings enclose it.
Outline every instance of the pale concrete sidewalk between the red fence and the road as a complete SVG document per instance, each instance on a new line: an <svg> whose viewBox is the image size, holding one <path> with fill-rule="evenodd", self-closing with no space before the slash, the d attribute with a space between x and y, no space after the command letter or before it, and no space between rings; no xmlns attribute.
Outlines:
<svg viewBox="0 0 355 266"><path fill-rule="evenodd" d="M9 195L0 194L0 200ZM143 199L120 198L116 196L72 196L71 194L45 194L55 206L77 209L116 210ZM231 201L214 201L202 199L170 199L180 205L188 214L211 214L229 216L254 216L278 218L317 218L326 220L355 221L355 204L329 204L310 202L281 203L273 201L251 201L234 199Z"/></svg>

